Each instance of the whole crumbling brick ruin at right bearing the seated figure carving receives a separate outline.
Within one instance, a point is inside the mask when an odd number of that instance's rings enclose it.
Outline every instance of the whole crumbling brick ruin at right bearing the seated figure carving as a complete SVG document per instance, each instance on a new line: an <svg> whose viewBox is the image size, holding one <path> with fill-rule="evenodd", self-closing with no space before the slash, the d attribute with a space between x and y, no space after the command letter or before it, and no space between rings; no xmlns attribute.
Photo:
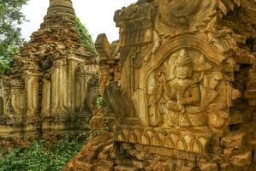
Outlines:
<svg viewBox="0 0 256 171"><path fill-rule="evenodd" d="M114 20L117 80L98 50L115 143L84 170L256 170L255 1L139 0Z"/></svg>

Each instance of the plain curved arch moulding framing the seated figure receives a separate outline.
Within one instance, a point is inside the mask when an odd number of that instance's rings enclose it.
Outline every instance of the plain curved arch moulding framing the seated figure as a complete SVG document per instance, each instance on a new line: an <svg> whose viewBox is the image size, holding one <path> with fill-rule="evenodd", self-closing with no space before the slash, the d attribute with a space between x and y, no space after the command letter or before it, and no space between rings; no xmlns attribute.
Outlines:
<svg viewBox="0 0 256 171"><path fill-rule="evenodd" d="M207 41L201 38L197 38L194 36L182 36L179 38L175 38L164 44L153 56L150 62L147 62L140 69L140 85L138 89L138 106L139 106L139 118L141 124L143 126L150 126L149 123L149 112L147 109L147 97L146 97L146 84L149 78L149 75L157 68L159 68L163 62L175 54L179 50L189 49L189 50L197 50L202 55L204 55L207 60L214 63L216 66L221 65L223 60L226 59L225 56L220 54L214 46L209 44Z"/></svg>

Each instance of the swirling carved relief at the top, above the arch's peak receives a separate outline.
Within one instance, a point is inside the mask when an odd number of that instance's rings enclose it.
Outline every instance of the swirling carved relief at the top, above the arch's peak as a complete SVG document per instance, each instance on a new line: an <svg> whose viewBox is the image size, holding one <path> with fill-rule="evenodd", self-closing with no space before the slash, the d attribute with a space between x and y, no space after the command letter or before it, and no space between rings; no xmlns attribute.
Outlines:
<svg viewBox="0 0 256 171"><path fill-rule="evenodd" d="M209 0L160 0L156 29L164 36L198 32L211 21L216 5L217 1Z"/></svg>

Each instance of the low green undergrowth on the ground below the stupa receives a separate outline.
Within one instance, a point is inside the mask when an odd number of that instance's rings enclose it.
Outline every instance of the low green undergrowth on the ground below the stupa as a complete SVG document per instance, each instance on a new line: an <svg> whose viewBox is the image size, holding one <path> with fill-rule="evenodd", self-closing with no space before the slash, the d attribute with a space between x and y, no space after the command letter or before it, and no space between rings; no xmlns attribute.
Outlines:
<svg viewBox="0 0 256 171"><path fill-rule="evenodd" d="M74 139L62 139L52 145L35 141L0 157L0 171L61 171L83 144Z"/></svg>

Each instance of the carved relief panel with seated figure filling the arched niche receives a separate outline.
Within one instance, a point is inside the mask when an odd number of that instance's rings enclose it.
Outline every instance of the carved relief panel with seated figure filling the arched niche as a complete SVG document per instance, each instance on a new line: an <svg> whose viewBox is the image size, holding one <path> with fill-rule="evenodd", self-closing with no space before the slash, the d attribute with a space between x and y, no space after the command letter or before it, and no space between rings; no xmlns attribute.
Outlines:
<svg viewBox="0 0 256 171"><path fill-rule="evenodd" d="M178 50L148 76L150 124L210 127L213 132L223 133L229 125L227 102L234 92L221 68L199 50Z"/></svg>

